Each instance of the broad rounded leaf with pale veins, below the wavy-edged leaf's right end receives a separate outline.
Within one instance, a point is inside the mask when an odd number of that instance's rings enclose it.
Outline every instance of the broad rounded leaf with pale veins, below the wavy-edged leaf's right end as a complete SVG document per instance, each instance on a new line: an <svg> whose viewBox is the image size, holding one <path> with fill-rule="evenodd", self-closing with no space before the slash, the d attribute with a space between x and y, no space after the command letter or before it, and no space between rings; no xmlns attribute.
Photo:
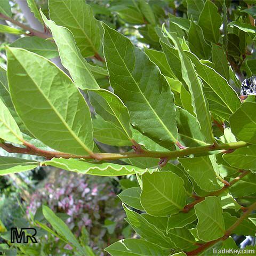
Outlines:
<svg viewBox="0 0 256 256"><path fill-rule="evenodd" d="M151 215L165 216L178 213L186 204L184 182L172 172L145 173L142 175L140 202Z"/></svg>

